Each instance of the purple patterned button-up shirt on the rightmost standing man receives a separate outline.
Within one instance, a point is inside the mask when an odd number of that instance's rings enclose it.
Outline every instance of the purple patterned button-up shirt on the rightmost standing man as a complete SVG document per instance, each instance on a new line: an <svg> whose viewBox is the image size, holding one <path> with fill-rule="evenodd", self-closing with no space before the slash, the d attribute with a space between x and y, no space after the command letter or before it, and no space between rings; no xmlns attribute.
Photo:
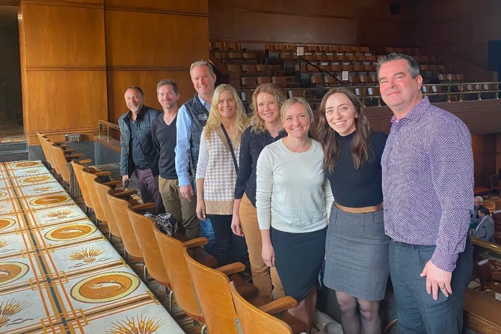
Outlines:
<svg viewBox="0 0 501 334"><path fill-rule="evenodd" d="M435 245L432 263L451 272L473 208L471 135L427 97L391 122L381 158L385 232L395 241Z"/></svg>

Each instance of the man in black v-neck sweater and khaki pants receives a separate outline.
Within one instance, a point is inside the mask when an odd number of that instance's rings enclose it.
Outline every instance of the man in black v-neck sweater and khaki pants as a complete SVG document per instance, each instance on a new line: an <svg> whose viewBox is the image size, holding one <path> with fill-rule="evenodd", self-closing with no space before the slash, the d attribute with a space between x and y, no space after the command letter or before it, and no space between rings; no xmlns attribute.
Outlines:
<svg viewBox="0 0 501 334"><path fill-rule="evenodd" d="M179 195L179 182L175 167L177 101L179 91L172 80L162 80L157 84L158 102L163 113L151 123L153 145L160 152L158 159L158 188L162 195L165 211L177 221L179 227L184 227L184 233L189 239L200 236L200 224L196 217L196 200L188 201Z"/></svg>

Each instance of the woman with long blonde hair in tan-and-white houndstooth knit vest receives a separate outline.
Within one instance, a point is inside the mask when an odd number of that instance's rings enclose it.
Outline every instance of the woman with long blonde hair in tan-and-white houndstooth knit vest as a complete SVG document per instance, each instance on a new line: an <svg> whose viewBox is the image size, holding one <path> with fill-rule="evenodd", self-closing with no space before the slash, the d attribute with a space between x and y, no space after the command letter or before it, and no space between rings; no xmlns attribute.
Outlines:
<svg viewBox="0 0 501 334"><path fill-rule="evenodd" d="M234 189L240 137L248 125L236 91L219 85L214 91L207 124L200 138L196 168L199 219L209 218L215 235L215 256L219 265L242 262L250 272L245 239L231 231Z"/></svg>

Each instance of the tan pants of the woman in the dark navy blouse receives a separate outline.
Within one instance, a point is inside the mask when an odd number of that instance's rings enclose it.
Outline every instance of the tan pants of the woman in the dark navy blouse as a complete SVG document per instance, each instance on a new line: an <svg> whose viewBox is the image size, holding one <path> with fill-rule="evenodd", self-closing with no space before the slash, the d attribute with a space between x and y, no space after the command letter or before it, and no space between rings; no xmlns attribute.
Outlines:
<svg viewBox="0 0 501 334"><path fill-rule="evenodd" d="M238 216L240 217L240 226L245 236L245 242L247 243L253 283L258 288L259 295L272 297L273 284L275 298L283 297L284 287L280 281L277 269L275 267L268 267L261 255L263 244L261 241L261 230L258 225L258 214L256 208L250 203L246 195L243 195L240 202Z"/></svg>

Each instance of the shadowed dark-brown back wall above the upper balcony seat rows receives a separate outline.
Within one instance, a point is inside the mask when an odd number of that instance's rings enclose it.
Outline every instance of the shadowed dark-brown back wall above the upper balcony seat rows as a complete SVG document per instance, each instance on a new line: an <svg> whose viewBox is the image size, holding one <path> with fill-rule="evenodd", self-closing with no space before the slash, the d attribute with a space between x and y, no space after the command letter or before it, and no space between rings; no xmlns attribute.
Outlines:
<svg viewBox="0 0 501 334"><path fill-rule="evenodd" d="M366 0L209 0L210 39L411 47L413 2Z"/></svg>

